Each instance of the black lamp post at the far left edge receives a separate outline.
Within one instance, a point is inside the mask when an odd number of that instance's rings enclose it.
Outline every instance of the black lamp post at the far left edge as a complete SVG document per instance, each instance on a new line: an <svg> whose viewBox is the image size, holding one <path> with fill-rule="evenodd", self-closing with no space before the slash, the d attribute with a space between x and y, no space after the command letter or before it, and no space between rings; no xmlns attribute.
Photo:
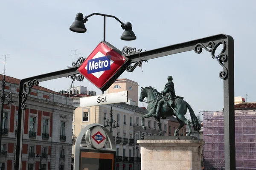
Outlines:
<svg viewBox="0 0 256 170"><path fill-rule="evenodd" d="M7 105L9 105L9 104L12 104L12 103L14 103L13 102L13 100L12 100L12 92L10 92L9 94L7 94L7 95L5 95L5 92L4 92L4 90L5 90L5 75L3 75L3 80L2 80L2 92L3 92L3 95L2 96L0 96L0 99L1 99L1 122L0 122L0 126L1 126L1 130L0 130L0 146L2 146L2 133L3 133L3 131L4 131L4 129L3 129L3 105L4 105L4 102L5 102L5 99L7 98L7 97L9 97L9 99L8 99L8 101L6 102L6 104ZM10 96L11 95L11 96ZM11 97L11 98L10 98ZM1 156L1 154L0 154L0 156ZM1 158L1 157L0 157Z"/></svg>

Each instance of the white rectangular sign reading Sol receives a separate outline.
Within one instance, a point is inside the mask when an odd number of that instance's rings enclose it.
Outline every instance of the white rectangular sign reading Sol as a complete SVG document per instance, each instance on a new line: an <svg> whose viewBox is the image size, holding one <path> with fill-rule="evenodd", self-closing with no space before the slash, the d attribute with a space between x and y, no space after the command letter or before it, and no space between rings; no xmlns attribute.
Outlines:
<svg viewBox="0 0 256 170"><path fill-rule="evenodd" d="M121 102L128 102L128 91L102 94L99 96L81 97L79 107L86 108L90 106L108 105Z"/></svg>

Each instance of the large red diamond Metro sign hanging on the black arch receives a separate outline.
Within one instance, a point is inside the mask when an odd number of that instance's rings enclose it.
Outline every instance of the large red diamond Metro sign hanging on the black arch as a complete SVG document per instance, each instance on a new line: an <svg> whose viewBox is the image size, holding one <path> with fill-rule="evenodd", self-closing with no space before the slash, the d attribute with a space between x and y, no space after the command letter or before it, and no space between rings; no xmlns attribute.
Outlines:
<svg viewBox="0 0 256 170"><path fill-rule="evenodd" d="M106 91L125 71L128 59L108 42L100 42L78 68L85 78L102 91Z"/></svg>

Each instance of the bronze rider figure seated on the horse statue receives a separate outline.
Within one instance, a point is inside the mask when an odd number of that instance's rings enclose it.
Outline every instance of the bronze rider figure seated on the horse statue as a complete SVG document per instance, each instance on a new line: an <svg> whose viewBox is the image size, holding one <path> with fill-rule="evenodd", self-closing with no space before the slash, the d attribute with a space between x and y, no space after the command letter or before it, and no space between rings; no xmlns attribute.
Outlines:
<svg viewBox="0 0 256 170"><path fill-rule="evenodd" d="M164 100L169 104L169 106L172 106L174 104L174 99L176 98L174 84L172 82L172 76L168 76L167 80L168 82L164 86L164 90L161 92L161 95L163 95L163 98L160 99L160 101L157 104L156 116L159 115L160 106L164 104Z"/></svg>

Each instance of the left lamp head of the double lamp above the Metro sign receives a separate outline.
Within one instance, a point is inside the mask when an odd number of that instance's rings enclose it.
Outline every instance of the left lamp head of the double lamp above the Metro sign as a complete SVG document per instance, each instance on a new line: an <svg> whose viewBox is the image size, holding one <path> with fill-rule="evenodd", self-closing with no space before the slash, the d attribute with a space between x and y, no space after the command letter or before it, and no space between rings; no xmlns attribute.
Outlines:
<svg viewBox="0 0 256 170"><path fill-rule="evenodd" d="M76 20L73 22L73 24L70 26L70 31L77 32L77 33L84 33L87 31L87 29L84 26L84 23L86 23L86 19L84 19L84 15L82 13L76 14Z"/></svg>

